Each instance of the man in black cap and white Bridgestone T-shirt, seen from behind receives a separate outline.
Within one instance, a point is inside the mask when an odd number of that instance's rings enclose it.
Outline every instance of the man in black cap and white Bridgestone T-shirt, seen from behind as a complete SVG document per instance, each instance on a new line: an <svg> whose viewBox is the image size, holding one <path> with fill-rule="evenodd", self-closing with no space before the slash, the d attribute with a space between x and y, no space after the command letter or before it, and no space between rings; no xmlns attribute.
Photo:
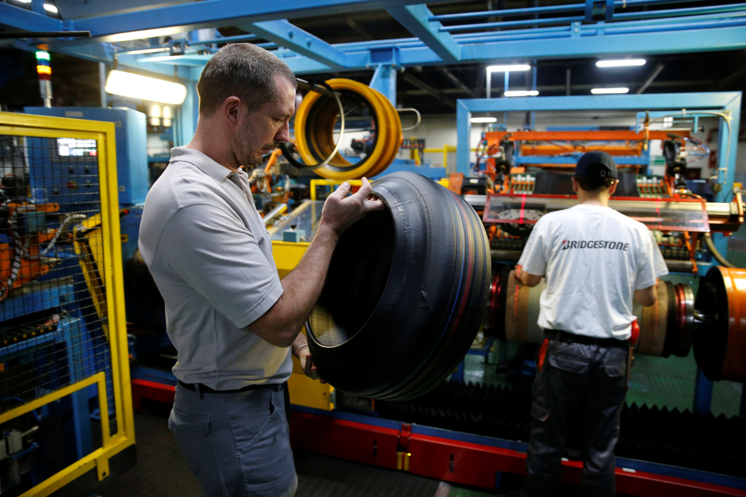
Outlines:
<svg viewBox="0 0 746 497"><path fill-rule="evenodd" d="M545 340L536 361L524 497L554 492L571 419L579 419L583 431L579 495L615 495L633 298L655 304L657 277L668 274L651 231L609 207L617 177L606 152L580 157L572 178L579 204L542 216L516 266L519 284L547 280L539 301Z"/></svg>

